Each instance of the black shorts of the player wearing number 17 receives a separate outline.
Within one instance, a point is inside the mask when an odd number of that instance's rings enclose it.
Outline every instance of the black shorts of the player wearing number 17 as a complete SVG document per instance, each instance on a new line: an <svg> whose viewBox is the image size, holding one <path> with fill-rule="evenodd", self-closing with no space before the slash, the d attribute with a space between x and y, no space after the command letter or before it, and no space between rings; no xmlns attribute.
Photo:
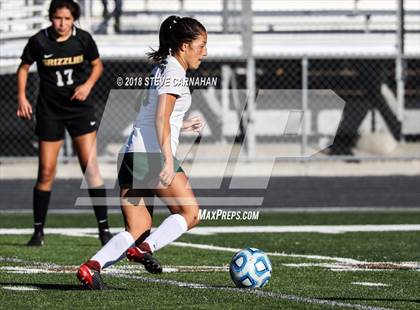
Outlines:
<svg viewBox="0 0 420 310"><path fill-rule="evenodd" d="M96 131L98 121L94 113L85 113L71 119L37 118L35 134L41 141L59 141L64 139L65 129L74 138Z"/></svg>

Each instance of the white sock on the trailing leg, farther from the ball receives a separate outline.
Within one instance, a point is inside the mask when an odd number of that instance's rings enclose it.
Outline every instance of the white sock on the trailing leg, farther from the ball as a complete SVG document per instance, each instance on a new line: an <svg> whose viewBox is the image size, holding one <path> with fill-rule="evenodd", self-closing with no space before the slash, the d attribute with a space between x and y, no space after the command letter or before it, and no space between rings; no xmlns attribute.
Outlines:
<svg viewBox="0 0 420 310"><path fill-rule="evenodd" d="M127 249L133 243L134 239L128 231L120 232L109 240L91 260L96 260L101 268L106 268L124 258Z"/></svg>

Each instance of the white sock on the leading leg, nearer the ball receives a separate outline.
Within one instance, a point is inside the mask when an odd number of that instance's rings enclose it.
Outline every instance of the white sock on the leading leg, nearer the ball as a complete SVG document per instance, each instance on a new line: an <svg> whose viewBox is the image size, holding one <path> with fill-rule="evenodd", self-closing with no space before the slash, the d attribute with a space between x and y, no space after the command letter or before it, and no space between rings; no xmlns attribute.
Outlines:
<svg viewBox="0 0 420 310"><path fill-rule="evenodd" d="M185 218L180 214L172 214L144 242L147 242L154 252L178 239L187 229Z"/></svg>

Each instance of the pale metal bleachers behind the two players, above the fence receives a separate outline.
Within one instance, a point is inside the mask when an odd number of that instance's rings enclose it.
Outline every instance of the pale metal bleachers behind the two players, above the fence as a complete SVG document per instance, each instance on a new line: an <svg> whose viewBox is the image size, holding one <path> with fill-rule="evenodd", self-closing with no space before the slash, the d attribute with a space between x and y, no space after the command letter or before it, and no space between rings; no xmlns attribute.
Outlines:
<svg viewBox="0 0 420 310"><path fill-rule="evenodd" d="M121 34L112 21L103 28L102 2L85 0L90 12L80 26L94 33L104 58L144 58L156 45L162 19L170 14L195 16L211 33L209 58L242 56L240 1L125 0ZM0 73L15 70L27 38L49 25L49 0L0 0ZM113 1L109 1L112 10ZM253 2L256 57L395 55L396 0L268 1ZM225 22L223 18L225 16ZM225 26L225 27L224 27ZM224 29L226 28L226 29ZM405 0L405 51L420 55L420 2ZM100 33L102 32L102 34ZM226 44L229 42L229 44Z"/></svg>

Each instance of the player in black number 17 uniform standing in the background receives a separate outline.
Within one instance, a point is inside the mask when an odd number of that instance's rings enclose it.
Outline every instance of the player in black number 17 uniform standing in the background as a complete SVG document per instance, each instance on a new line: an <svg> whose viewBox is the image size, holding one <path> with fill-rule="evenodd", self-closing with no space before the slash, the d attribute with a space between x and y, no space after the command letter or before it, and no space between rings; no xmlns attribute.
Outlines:
<svg viewBox="0 0 420 310"><path fill-rule="evenodd" d="M80 17L77 3L53 0L48 13L51 26L29 39L17 70L17 116L23 119L32 118L32 106L26 98L25 90L28 70L34 62L37 63L40 77L35 114L35 133L39 138L38 178L33 192L35 232L28 246L44 243L43 227L65 129L72 137L89 185L89 195L106 195L96 161L97 120L89 100L90 91L103 71L98 49L88 32L74 26L74 21ZM107 207L94 205L93 208L99 237L101 243L105 244L112 238Z"/></svg>

